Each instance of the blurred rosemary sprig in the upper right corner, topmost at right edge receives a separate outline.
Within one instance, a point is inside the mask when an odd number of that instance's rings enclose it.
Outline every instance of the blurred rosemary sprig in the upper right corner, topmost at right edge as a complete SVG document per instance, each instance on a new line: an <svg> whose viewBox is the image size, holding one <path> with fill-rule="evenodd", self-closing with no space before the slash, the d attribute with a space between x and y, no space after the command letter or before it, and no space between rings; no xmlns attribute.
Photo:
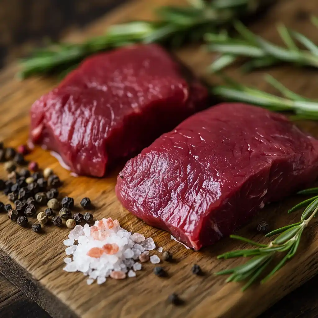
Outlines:
<svg viewBox="0 0 318 318"><path fill-rule="evenodd" d="M318 27L317 18L312 17L311 21ZM278 25L277 30L286 47L274 45L255 35L239 21L234 22L234 28L239 33L239 38L232 38L227 32L207 33L204 36L208 43L208 50L222 53L221 57L211 64L211 71L220 71L236 61L239 56L250 59L243 65L245 71L281 62L318 67L318 46L303 34L289 30L283 24ZM300 49L295 40L302 44L306 50Z"/></svg>

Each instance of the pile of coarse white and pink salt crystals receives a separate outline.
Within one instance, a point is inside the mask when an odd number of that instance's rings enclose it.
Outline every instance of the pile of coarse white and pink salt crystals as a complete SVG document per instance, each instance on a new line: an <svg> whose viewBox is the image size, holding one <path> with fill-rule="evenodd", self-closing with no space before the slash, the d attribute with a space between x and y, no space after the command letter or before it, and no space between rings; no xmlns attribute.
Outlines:
<svg viewBox="0 0 318 318"><path fill-rule="evenodd" d="M95 280L97 284L102 284L107 277L135 277L136 271L142 269L142 264L136 260L149 259L148 251L156 248L152 238L145 239L139 233L131 234L112 218L103 218L93 226L76 225L64 245L67 246L65 252L68 257L64 259L66 266L63 269L84 273L88 276L88 285ZM152 260L158 262L158 259Z"/></svg>

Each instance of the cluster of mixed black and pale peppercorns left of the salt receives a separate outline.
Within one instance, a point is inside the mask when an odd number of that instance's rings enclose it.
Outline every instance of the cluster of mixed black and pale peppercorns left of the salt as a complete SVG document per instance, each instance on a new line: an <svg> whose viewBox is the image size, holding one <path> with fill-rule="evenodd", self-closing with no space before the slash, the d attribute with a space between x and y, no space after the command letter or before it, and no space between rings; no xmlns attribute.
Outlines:
<svg viewBox="0 0 318 318"><path fill-rule="evenodd" d="M62 219L66 221L69 228L75 227L83 221L89 223L93 221L93 215L86 212L84 215L77 212L72 216L74 199L64 197L59 202L59 187L62 185L59 177L55 175L50 168L40 172L36 162L26 162L24 155L29 152L26 146L19 146L17 151L13 148L4 148L0 142L0 162L4 163L4 169L8 172L8 180L0 179L0 191L8 197L8 200L14 203L3 204L0 202L0 212L7 212L8 218L16 221L20 226L28 224L27 217L33 217L40 207L47 206L44 211L37 214L38 223L32 224L34 232L41 232L43 224L46 224L50 218L55 226L62 226ZM26 166L28 169L17 166ZM83 198L80 202L85 210L90 210L92 204L89 198ZM61 209L60 209L61 208ZM59 211L59 215L55 215Z"/></svg>

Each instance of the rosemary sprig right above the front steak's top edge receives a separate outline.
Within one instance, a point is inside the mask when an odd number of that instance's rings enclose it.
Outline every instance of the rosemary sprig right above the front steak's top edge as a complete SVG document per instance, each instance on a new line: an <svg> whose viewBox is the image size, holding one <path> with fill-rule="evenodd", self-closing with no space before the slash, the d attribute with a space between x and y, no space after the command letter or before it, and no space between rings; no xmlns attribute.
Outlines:
<svg viewBox="0 0 318 318"><path fill-rule="evenodd" d="M228 100L259 105L276 112L294 112L294 119L318 120L318 100L310 100L290 91L268 74L265 76L265 80L276 88L283 97L242 85L225 75L220 74L220 76L225 80L227 85L212 87L211 92L215 95L222 96Z"/></svg>

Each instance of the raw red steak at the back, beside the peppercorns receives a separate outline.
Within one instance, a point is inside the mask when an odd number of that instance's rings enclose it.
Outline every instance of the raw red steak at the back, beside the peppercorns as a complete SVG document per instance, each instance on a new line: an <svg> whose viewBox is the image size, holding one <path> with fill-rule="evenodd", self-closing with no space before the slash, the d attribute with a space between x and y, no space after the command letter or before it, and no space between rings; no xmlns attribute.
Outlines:
<svg viewBox="0 0 318 318"><path fill-rule="evenodd" d="M160 46L121 48L86 59L33 104L31 140L78 174L104 176L205 108L207 95Z"/></svg>

